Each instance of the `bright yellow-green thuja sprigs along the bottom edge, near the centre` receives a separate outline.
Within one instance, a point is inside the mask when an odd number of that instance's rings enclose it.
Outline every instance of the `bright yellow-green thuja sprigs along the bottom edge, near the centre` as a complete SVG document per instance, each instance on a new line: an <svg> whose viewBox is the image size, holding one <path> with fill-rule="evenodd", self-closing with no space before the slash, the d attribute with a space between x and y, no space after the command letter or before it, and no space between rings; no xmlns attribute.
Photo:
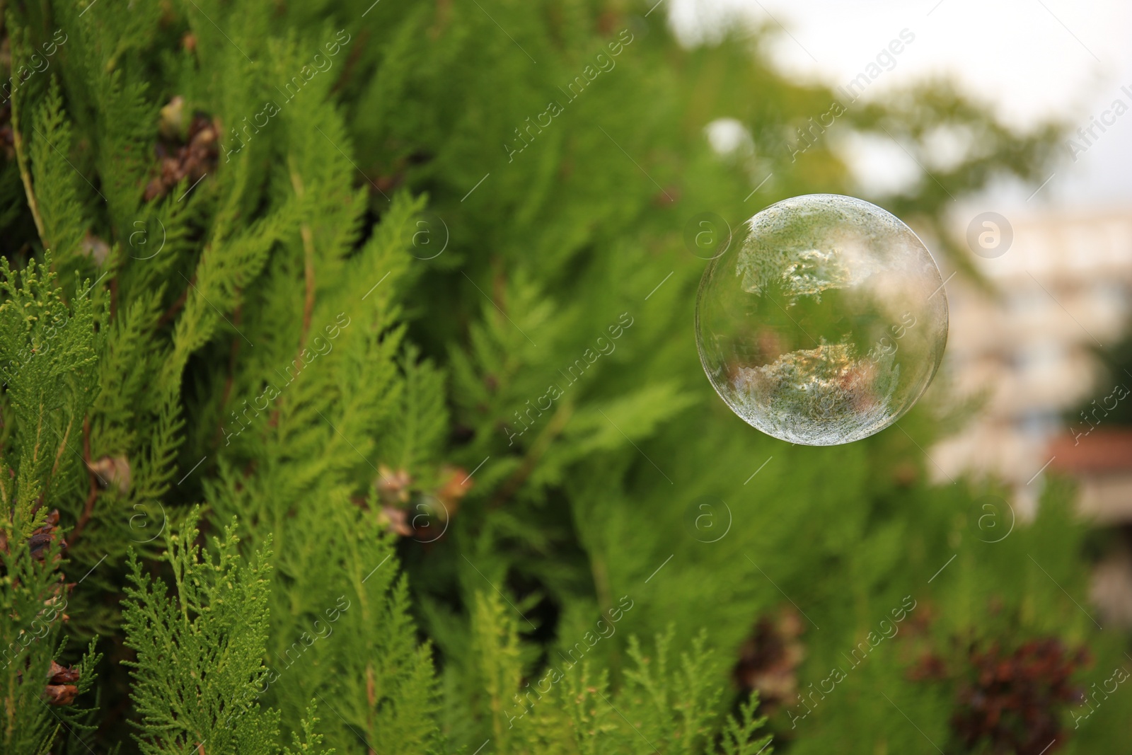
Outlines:
<svg viewBox="0 0 1132 755"><path fill-rule="evenodd" d="M594 672L584 658L559 655L549 670L526 677L515 609L496 594L477 593L472 616L471 677L466 689L481 712L479 736L499 753L663 752L692 755L718 752L772 753L769 737L756 737L765 722L755 717L757 696L735 715L721 709L717 679L720 659L701 635L670 666L671 633L658 635L646 654L628 643L632 666L625 684L610 688L606 670ZM559 662L560 659L560 662Z"/></svg>

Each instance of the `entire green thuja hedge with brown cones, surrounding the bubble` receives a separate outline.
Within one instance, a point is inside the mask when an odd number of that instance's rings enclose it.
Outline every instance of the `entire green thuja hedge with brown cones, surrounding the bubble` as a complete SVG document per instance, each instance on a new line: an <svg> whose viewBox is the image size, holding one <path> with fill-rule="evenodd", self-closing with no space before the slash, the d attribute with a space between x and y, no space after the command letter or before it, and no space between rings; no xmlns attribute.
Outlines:
<svg viewBox="0 0 1132 755"><path fill-rule="evenodd" d="M945 379L840 448L711 394L688 221L855 187L649 6L0 6L2 752L1114 752L1071 492L934 483ZM977 135L874 197L940 254L1057 135L843 104Z"/></svg>

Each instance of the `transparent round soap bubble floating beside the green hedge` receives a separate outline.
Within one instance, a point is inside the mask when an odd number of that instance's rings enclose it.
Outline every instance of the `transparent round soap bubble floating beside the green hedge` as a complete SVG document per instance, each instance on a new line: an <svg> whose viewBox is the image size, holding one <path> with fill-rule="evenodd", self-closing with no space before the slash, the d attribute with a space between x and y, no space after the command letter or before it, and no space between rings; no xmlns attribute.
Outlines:
<svg viewBox="0 0 1132 755"><path fill-rule="evenodd" d="M704 371L736 414L790 443L832 446L889 427L927 389L946 342L932 255L894 215L852 197L767 207L700 282Z"/></svg>

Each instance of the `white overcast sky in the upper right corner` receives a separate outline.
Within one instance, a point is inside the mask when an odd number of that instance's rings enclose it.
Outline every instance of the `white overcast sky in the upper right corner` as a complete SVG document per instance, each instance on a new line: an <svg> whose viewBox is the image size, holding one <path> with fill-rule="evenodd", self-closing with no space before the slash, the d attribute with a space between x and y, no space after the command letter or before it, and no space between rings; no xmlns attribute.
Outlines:
<svg viewBox="0 0 1132 755"><path fill-rule="evenodd" d="M687 37L736 18L778 26L778 65L844 85L901 29L916 35L868 95L938 72L992 102L1012 123L1061 115L1080 126L1123 100L1094 145L1065 163L1029 206L1132 205L1132 2L1127 0L666 0ZM1121 87L1126 86L1127 93ZM1114 114L1109 114L1110 122ZM873 170L883 170L882 163ZM876 163L876 161L874 161ZM897 166L893 166L895 169ZM1004 203L1026 197L1000 191Z"/></svg>

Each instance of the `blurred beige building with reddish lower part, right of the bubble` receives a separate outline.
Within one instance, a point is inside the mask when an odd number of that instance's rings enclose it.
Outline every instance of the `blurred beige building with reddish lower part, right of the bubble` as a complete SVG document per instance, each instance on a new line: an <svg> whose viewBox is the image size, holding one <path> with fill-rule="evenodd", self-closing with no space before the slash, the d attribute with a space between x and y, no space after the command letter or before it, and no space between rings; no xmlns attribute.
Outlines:
<svg viewBox="0 0 1132 755"><path fill-rule="evenodd" d="M1005 251L971 255L990 288L962 274L947 283L944 378L981 403L932 457L950 477L1006 480L1023 516L1034 511L1045 472L1069 472L1081 481L1082 513L1132 523L1132 436L1106 427L1103 409L1132 395L1122 398L1126 392L1100 383L1096 357L1132 319L1132 208L1049 211L1007 222L1013 240ZM1120 384L1132 388L1132 376ZM1081 405L1092 411L1066 421Z"/></svg>

